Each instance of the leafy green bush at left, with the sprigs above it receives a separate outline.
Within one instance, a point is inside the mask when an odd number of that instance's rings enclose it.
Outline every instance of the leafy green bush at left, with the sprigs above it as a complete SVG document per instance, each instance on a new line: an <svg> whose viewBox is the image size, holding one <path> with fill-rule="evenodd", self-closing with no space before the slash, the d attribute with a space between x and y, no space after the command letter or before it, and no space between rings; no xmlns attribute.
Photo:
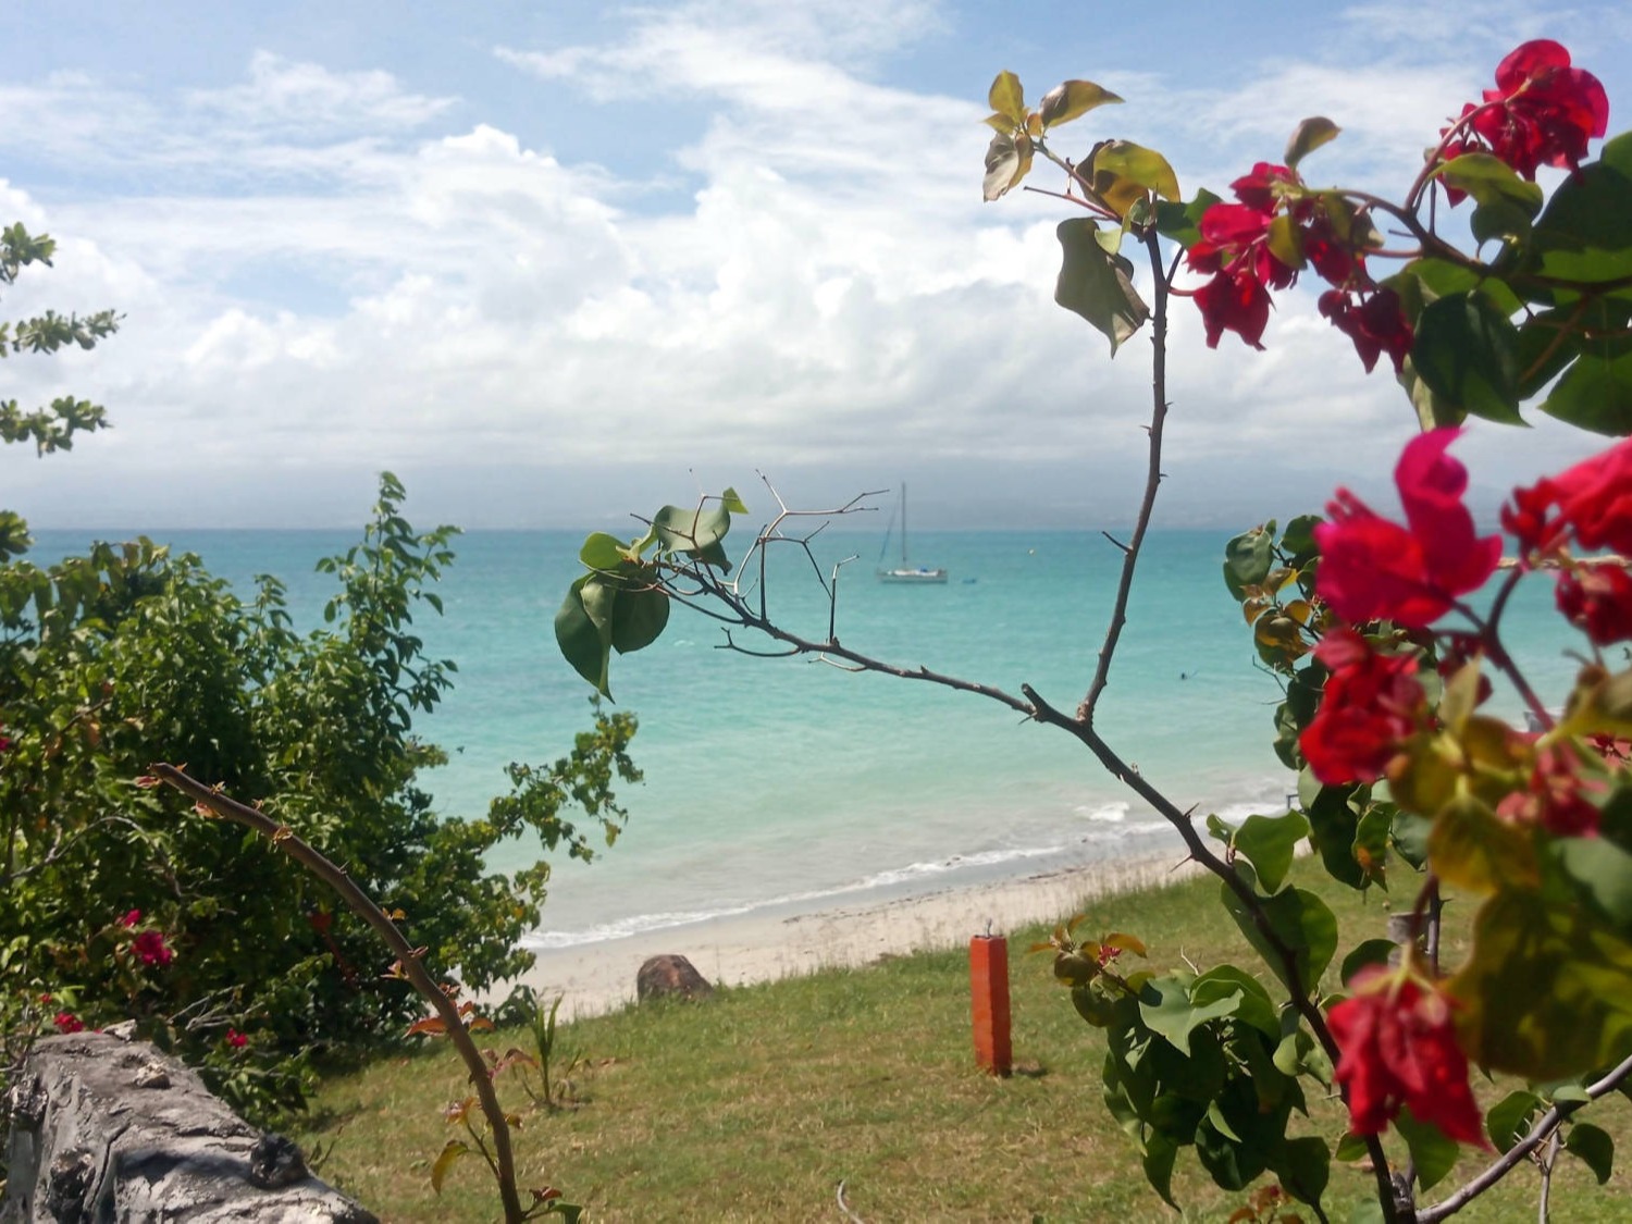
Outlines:
<svg viewBox="0 0 1632 1224"><path fill-rule="evenodd" d="M51 255L5 232L7 281ZM113 331L47 313L13 333L36 351ZM16 418L41 452L104 424L72 401ZM452 527L416 532L385 473L362 539L326 558L325 627L294 630L284 588L240 599L193 555L147 539L34 565L20 519L0 524L0 1033L7 1062L39 1031L135 1018L201 1061L240 1106L299 1100L312 1051L400 1035L419 1015L382 976L379 945L299 867L202 819L149 777L194 777L253 800L387 909L439 971L473 991L532 963L548 863L491 871L501 842L591 858L625 819L640 774L632 715L594 713L571 751L509 767L477 818L432 809L415 733L455 666L428 658L415 617L441 612ZM583 816L570 818L573 809Z"/></svg>

